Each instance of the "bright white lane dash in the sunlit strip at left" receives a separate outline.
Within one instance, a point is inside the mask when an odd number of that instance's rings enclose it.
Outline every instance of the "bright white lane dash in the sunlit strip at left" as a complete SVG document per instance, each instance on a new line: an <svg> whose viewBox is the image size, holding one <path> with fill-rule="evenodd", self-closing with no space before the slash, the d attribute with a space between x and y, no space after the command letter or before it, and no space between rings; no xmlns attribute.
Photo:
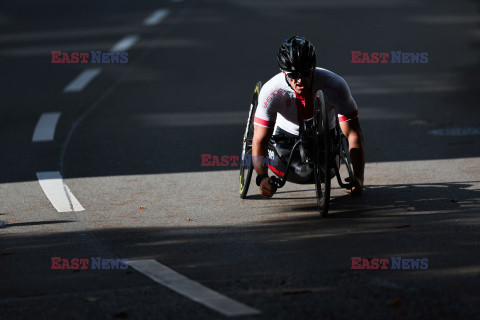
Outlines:
<svg viewBox="0 0 480 320"><path fill-rule="evenodd" d="M58 171L37 172L38 182L58 212L85 210L63 181Z"/></svg>

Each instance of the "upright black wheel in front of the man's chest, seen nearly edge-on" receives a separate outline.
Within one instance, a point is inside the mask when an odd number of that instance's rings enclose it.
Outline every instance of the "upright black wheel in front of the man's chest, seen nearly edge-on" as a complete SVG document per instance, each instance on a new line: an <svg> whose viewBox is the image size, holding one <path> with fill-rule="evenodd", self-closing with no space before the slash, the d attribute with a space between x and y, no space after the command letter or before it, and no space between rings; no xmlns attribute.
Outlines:
<svg viewBox="0 0 480 320"><path fill-rule="evenodd" d="M313 137L316 150L313 175L317 191L318 210L322 217L328 214L330 202L332 147L328 122L327 106L325 105L323 92L319 90L315 96L313 117Z"/></svg>

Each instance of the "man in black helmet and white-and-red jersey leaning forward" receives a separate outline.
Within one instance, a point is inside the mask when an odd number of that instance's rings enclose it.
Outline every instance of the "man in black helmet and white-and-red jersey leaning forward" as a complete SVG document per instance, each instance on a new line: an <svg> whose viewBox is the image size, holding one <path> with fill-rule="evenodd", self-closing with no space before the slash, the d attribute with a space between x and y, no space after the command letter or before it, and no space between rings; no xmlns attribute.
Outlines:
<svg viewBox="0 0 480 320"><path fill-rule="evenodd" d="M262 87L254 119L253 158L266 157L272 135L295 139L299 135L300 119L313 117L314 94L322 90L327 109L335 111L343 134L349 142L354 181L347 190L352 196L363 192L365 143L358 119L358 108L345 80L339 75L316 67L315 48L305 38L293 36L278 50L280 73ZM334 119L334 118L333 118ZM256 182L260 194L271 197L277 188L270 184L268 165L255 163ZM308 171L308 166L292 162L296 172ZM274 167L270 167L276 170ZM311 170L311 169L310 169Z"/></svg>

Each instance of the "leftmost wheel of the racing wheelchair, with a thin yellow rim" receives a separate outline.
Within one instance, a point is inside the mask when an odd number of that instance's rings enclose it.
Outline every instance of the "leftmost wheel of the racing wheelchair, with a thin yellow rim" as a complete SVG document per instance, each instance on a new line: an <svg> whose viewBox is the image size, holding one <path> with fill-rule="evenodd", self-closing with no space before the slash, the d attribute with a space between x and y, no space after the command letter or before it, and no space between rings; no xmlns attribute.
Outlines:
<svg viewBox="0 0 480 320"><path fill-rule="evenodd" d="M252 101L250 103L250 113L248 114L247 127L243 135L242 141L242 157L240 161L240 198L245 199L252 179L253 165L251 161L252 155L252 139L253 139L253 118L258 105L258 95L262 89L262 83L259 81L253 91ZM244 161L245 156L250 156L250 161ZM248 159L248 158L247 158Z"/></svg>

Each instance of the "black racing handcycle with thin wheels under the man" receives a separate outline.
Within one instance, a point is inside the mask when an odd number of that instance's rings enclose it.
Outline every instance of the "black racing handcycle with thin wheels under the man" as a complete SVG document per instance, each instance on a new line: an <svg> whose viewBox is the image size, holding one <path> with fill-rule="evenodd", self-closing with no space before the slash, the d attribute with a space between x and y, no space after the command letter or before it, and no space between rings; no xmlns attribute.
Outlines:
<svg viewBox="0 0 480 320"><path fill-rule="evenodd" d="M240 198L242 199L247 196L254 170L251 161L253 119L261 88L262 83L258 82L253 92L247 127L243 135L242 161L240 163ZM331 111L333 112L333 110ZM281 136L273 135L268 144L269 155L273 155L278 160L279 167L283 168L282 171L279 171L269 166L275 174L270 178L270 183L277 188L282 188L287 181L302 184L314 183L320 215L322 217L328 215L331 179L336 176L340 187L346 189L352 188L354 179L348 140L340 129L336 115L331 113L329 118L329 110L321 90L316 93L314 98L313 117L301 119L299 135L293 138L291 150L285 152L283 149L282 152L282 139ZM307 168L307 177L300 177L295 172L296 170L292 172L294 155L299 155L300 163ZM340 175L342 166L346 168L349 177L347 183L342 181Z"/></svg>

